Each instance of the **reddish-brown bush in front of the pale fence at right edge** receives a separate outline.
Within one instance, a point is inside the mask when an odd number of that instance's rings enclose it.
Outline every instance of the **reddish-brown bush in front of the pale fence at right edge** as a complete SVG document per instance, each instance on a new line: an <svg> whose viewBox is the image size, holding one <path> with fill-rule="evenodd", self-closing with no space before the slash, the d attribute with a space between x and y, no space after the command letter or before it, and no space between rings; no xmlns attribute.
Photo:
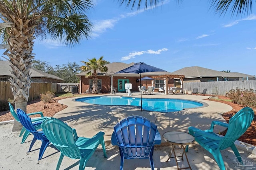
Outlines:
<svg viewBox="0 0 256 170"><path fill-rule="evenodd" d="M231 89L227 94L234 104L256 108L256 92L253 89Z"/></svg>

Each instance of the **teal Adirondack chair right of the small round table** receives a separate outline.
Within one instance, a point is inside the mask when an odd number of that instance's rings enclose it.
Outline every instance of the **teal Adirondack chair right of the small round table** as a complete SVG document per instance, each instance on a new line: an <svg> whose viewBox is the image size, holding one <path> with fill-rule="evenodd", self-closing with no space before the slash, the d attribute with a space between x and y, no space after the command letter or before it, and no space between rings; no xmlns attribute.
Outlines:
<svg viewBox="0 0 256 170"><path fill-rule="evenodd" d="M248 129L253 118L253 110L250 107L244 107L231 117L228 124L220 121L212 121L211 127L208 130L202 131L195 127L189 127L188 130L189 133L195 137L195 140L214 156L220 170L225 170L226 168L220 150L231 147L236 158L242 163L242 159L234 142ZM224 137L216 135L213 132L214 125L227 127L226 135ZM188 147L186 148L186 151L187 150Z"/></svg>

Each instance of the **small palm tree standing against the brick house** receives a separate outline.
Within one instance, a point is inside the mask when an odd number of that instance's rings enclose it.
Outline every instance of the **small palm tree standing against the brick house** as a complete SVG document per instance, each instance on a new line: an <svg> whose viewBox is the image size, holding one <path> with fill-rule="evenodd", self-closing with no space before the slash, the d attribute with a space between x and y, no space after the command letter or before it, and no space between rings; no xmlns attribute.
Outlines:
<svg viewBox="0 0 256 170"><path fill-rule="evenodd" d="M88 59L89 62L81 61L84 63L84 66L81 66L81 70L86 72L86 77L92 76L92 93L96 94L98 92L98 78L97 78L97 70L100 72L107 72L108 67L105 65L109 62L103 60L103 56L100 59Z"/></svg>

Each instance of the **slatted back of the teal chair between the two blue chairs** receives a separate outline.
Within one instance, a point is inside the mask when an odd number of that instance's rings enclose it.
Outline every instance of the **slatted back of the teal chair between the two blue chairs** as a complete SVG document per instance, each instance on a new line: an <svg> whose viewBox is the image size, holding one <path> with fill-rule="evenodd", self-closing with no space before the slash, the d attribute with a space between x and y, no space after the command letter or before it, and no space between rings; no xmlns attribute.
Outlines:
<svg viewBox="0 0 256 170"><path fill-rule="evenodd" d="M80 150L75 145L78 139L76 129L56 118L48 118L42 123L42 129L49 141L64 155L79 159Z"/></svg>

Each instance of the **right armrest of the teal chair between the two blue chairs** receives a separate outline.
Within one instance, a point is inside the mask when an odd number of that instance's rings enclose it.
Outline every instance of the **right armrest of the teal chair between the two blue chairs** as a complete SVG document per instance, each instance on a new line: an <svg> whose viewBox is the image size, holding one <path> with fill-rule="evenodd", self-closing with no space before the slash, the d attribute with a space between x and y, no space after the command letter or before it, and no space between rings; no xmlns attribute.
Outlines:
<svg viewBox="0 0 256 170"><path fill-rule="evenodd" d="M104 135L105 135L104 132L99 132L96 135L94 135L92 138L78 137L78 139L76 141L76 146L79 149L84 149L84 148L96 143L100 139L102 139Z"/></svg>

